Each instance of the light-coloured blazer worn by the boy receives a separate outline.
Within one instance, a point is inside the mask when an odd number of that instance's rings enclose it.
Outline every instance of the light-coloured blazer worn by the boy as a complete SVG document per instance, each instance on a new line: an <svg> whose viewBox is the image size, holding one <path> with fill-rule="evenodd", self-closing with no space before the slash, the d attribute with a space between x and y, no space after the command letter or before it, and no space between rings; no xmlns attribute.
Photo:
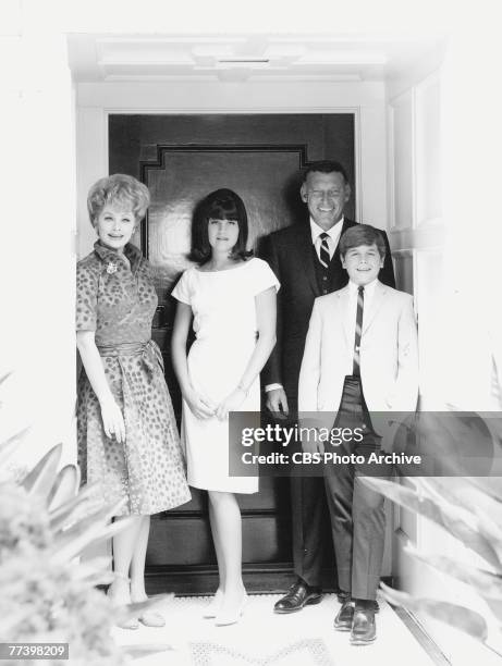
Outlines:
<svg viewBox="0 0 502 666"><path fill-rule="evenodd" d="M340 407L354 351L348 306L348 286L315 300L299 373L298 411ZM377 282L365 312L359 354L369 411L415 411L418 342L412 296Z"/></svg>

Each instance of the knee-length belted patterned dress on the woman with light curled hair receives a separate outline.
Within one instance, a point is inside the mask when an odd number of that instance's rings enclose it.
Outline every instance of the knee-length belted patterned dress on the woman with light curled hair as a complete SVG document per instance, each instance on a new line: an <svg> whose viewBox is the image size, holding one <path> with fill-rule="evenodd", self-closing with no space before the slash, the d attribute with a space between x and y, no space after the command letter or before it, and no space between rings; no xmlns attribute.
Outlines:
<svg viewBox="0 0 502 666"><path fill-rule="evenodd" d="M106 436L85 371L78 381L78 460L84 482L106 502L125 497L122 514L151 515L191 498L160 349L150 340L157 294L140 251L96 243L77 264L76 330L95 331L105 373L122 409L126 440Z"/></svg>

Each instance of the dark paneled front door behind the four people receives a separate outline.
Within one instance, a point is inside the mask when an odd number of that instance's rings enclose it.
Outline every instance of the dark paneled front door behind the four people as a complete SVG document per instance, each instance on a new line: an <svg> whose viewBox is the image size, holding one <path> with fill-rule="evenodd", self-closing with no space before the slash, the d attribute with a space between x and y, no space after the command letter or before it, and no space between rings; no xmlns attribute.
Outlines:
<svg viewBox="0 0 502 666"><path fill-rule="evenodd" d="M336 159L354 183L354 115L221 114L109 116L110 173L128 173L150 189L151 206L136 243L156 271L159 308L152 336L166 361L177 418L181 411L169 347L175 304L170 296L187 268L192 213L209 192L230 187L243 198L249 243L295 221L308 223L299 200L299 171L309 161ZM355 198L353 197L352 201ZM346 214L353 217L353 210ZM152 518L147 556L150 591L215 589L216 557L207 494ZM249 589L283 589L292 570L287 479L262 479L256 495L240 495L243 560ZM326 530L330 541L329 526ZM330 557L330 555L328 555Z"/></svg>

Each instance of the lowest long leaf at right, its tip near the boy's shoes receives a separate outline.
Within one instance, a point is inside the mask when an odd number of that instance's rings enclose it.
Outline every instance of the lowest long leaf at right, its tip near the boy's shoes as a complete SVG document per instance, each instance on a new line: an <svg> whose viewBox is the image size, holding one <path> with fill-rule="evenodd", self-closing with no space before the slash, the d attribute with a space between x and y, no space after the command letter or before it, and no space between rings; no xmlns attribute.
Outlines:
<svg viewBox="0 0 502 666"><path fill-rule="evenodd" d="M416 599L380 583L383 596L394 606L404 606L413 613L427 613L434 619L439 619L455 629L460 629L485 643L488 638L488 625L479 613L475 613L464 606L438 601L436 599Z"/></svg>

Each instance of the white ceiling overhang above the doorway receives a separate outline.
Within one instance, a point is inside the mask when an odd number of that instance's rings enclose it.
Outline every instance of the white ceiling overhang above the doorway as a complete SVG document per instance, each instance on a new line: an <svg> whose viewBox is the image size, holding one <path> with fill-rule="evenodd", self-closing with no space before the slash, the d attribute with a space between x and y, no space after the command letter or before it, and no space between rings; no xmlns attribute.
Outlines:
<svg viewBox="0 0 502 666"><path fill-rule="evenodd" d="M69 35L77 82L382 81L444 35Z"/></svg>

